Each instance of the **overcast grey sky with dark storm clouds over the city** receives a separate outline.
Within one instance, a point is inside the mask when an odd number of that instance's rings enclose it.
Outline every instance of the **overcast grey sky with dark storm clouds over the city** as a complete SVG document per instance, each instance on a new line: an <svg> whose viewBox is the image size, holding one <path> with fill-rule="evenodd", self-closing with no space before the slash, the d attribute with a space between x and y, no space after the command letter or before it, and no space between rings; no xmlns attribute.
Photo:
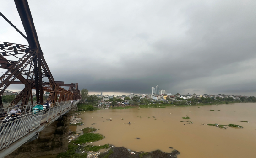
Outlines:
<svg viewBox="0 0 256 158"><path fill-rule="evenodd" d="M56 81L256 96L256 0L28 0ZM25 31L11 0L0 11ZM3 18L0 41L27 44ZM15 89L11 87L11 89Z"/></svg>

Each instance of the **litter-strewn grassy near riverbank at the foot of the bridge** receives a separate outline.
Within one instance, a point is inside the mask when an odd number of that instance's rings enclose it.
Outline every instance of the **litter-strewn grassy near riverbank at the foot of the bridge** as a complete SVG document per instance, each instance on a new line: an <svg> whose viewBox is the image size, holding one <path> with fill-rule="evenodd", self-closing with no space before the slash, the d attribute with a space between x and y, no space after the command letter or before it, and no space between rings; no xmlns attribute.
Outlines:
<svg viewBox="0 0 256 158"><path fill-rule="evenodd" d="M74 113L71 116L72 124L81 122L82 119ZM93 142L104 139L105 137L97 133L99 129L94 127L83 128L80 132L69 132L69 145L66 152L58 154L55 158L177 158L179 151L173 150L171 153L165 153L160 150L152 152L138 152L125 147L115 147L111 144L92 145ZM118 139L118 138L117 138ZM104 150L100 152L101 150Z"/></svg>

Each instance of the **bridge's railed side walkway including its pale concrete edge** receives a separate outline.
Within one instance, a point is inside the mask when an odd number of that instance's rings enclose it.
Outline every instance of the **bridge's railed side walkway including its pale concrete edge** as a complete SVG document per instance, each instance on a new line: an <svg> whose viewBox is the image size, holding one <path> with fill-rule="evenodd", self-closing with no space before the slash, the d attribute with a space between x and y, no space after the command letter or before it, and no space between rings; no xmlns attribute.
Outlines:
<svg viewBox="0 0 256 158"><path fill-rule="evenodd" d="M76 100L73 103L71 101L58 102L49 111L42 110L36 114L33 114L32 110L27 112L28 108L26 107L25 114L16 120L7 123L3 123L3 120L1 120L0 158L10 154L25 142L36 139L38 132L70 111L79 102L80 100Z"/></svg>

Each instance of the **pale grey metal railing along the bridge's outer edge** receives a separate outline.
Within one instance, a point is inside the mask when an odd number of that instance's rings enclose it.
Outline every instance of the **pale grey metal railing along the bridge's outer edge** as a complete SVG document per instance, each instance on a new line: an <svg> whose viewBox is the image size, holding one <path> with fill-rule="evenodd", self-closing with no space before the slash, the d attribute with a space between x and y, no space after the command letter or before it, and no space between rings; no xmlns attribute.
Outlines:
<svg viewBox="0 0 256 158"><path fill-rule="evenodd" d="M49 111L42 110L36 114L33 114L33 112L27 113L16 117L14 121L6 123L3 123L3 120L0 121L0 150L8 147L11 143L16 142L40 126L45 124L48 126L78 103L79 100L73 103L70 101L59 102L50 108Z"/></svg>

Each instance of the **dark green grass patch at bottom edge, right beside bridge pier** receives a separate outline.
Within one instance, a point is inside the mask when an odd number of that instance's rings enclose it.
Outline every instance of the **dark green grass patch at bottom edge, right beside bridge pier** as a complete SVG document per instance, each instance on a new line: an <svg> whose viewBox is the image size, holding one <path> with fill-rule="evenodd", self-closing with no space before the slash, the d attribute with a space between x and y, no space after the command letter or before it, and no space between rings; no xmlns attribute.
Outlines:
<svg viewBox="0 0 256 158"><path fill-rule="evenodd" d="M56 158L86 158L87 153L76 153L79 146L70 143L68 145L68 150L63 153L59 153Z"/></svg>

